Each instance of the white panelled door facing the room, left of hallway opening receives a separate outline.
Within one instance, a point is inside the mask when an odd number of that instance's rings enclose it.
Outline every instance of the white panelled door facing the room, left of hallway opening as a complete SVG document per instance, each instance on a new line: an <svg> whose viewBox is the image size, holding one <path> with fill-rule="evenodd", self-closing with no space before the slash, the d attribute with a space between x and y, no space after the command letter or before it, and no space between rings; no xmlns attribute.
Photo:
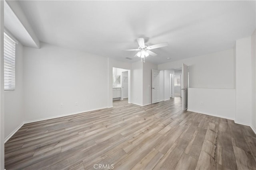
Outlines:
<svg viewBox="0 0 256 170"><path fill-rule="evenodd" d="M152 69L152 103L160 102L159 72Z"/></svg>

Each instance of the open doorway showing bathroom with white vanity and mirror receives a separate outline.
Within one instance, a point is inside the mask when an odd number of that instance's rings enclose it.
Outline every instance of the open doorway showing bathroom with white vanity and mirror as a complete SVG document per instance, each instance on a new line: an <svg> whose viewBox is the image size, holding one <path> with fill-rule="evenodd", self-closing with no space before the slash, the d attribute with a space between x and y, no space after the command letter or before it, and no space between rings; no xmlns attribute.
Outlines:
<svg viewBox="0 0 256 170"><path fill-rule="evenodd" d="M129 71L113 67L112 100L127 100L129 96Z"/></svg>

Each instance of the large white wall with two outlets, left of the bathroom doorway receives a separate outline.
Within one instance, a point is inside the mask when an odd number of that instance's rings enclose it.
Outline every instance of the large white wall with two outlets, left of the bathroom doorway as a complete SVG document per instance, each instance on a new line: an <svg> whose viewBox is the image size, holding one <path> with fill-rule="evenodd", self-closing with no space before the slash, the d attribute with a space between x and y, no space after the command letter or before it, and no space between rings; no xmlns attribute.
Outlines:
<svg viewBox="0 0 256 170"><path fill-rule="evenodd" d="M41 49L24 47L23 50L27 121L108 106L106 57L46 43L41 45Z"/></svg>

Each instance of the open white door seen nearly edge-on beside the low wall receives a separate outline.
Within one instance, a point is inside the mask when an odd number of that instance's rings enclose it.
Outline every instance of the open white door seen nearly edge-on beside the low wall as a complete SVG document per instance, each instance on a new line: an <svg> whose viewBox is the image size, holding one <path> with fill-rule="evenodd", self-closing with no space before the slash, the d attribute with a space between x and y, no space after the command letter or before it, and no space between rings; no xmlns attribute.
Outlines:
<svg viewBox="0 0 256 170"><path fill-rule="evenodd" d="M188 108L188 66L182 65L182 109Z"/></svg>

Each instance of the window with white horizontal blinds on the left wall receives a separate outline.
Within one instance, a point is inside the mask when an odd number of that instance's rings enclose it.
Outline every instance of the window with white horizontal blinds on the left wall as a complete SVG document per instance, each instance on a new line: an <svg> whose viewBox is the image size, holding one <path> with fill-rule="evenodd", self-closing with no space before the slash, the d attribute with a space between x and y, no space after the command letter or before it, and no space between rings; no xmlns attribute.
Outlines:
<svg viewBox="0 0 256 170"><path fill-rule="evenodd" d="M15 90L15 41L4 33L4 90Z"/></svg>

